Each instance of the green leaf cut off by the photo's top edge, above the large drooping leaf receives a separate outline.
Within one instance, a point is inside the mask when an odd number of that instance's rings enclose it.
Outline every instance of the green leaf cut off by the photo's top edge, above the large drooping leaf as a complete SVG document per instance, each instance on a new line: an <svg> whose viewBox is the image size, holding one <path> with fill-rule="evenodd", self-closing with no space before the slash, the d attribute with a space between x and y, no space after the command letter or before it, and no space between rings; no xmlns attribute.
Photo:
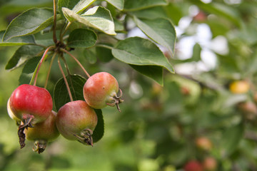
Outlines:
<svg viewBox="0 0 257 171"><path fill-rule="evenodd" d="M166 6L167 4L166 0L125 0L124 9L126 11L136 11L153 6Z"/></svg>

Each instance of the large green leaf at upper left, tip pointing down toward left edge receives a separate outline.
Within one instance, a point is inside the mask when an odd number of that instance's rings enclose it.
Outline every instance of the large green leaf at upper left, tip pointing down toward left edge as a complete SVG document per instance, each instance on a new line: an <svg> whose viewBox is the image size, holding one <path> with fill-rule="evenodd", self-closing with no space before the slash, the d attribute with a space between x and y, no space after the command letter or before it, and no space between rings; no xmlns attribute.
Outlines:
<svg viewBox="0 0 257 171"><path fill-rule="evenodd" d="M29 9L17 16L9 24L4 33L3 41L17 36L37 33L53 23L53 10Z"/></svg>

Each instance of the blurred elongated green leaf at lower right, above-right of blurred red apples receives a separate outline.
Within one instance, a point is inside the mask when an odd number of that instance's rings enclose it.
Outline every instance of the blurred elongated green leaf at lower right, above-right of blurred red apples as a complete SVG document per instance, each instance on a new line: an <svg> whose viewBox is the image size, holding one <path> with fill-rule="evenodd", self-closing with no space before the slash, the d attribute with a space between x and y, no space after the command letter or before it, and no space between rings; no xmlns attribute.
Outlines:
<svg viewBox="0 0 257 171"><path fill-rule="evenodd" d="M243 123L234 125L231 128L228 128L223 134L221 139L221 154L223 157L231 155L238 147L240 140L243 138L244 128Z"/></svg>

